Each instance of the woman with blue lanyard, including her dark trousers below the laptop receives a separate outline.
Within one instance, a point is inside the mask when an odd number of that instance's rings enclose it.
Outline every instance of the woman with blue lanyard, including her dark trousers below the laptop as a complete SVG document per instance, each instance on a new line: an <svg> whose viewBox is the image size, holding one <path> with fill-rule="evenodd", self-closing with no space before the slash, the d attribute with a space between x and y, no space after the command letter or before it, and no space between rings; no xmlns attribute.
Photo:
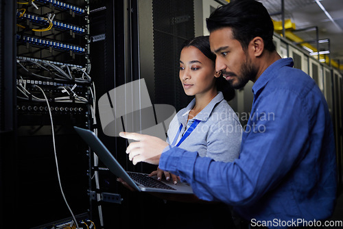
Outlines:
<svg viewBox="0 0 343 229"><path fill-rule="evenodd" d="M195 98L169 124L167 143L198 152L200 156L230 162L239 156L243 128L227 102L235 97L235 91L220 75L215 72L215 54L211 52L209 36L199 36L183 44L180 81L185 93ZM161 169L153 171L150 176L157 176L161 180L163 173L166 180L172 178L177 183L179 178ZM187 198L187 201L193 200L193 197ZM156 214L165 215L165 212L174 212L178 221L183 222L176 228L235 227L230 209L219 202L198 201L189 204L168 201ZM174 226L163 224L165 228Z"/></svg>

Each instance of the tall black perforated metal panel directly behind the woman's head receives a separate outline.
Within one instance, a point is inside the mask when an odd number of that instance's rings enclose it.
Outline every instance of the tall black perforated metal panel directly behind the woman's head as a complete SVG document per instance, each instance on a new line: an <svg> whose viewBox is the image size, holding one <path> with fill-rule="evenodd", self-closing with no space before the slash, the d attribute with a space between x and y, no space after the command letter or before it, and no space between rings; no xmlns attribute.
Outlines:
<svg viewBox="0 0 343 229"><path fill-rule="evenodd" d="M194 37L193 1L152 1L156 104L184 108L190 97L180 84L179 60L182 43Z"/></svg>

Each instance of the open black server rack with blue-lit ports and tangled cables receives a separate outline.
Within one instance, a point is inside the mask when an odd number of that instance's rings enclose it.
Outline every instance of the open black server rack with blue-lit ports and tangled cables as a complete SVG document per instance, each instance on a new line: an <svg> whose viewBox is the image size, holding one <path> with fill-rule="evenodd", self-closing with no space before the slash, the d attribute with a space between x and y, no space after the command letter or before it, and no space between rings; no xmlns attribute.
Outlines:
<svg viewBox="0 0 343 229"><path fill-rule="evenodd" d="M4 78L14 80L11 139L16 147L3 152L8 144L1 144L1 156L10 163L3 169L11 189L7 213L20 218L11 228L86 228L95 224L87 193L92 156L73 126L94 128L88 1L4 5L12 6L4 19L12 28L6 37L14 44L6 57L12 65L4 68L12 73Z"/></svg>

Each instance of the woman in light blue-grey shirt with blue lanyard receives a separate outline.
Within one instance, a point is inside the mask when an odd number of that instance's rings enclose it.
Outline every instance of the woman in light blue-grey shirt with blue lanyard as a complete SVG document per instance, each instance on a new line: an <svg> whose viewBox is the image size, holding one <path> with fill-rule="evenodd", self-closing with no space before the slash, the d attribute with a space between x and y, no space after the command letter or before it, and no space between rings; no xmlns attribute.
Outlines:
<svg viewBox="0 0 343 229"><path fill-rule="evenodd" d="M235 91L215 72L209 36L198 36L182 45L179 75L185 93L195 98L171 121L167 143L218 161L238 158L243 128L227 103ZM150 176L160 180L163 173L166 180L172 177L177 183L176 176L161 169Z"/></svg>

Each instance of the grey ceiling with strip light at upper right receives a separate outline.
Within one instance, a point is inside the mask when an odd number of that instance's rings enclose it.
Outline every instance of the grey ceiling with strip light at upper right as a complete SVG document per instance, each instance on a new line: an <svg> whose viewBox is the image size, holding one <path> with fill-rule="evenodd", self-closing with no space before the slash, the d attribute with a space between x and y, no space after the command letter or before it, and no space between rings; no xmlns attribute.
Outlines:
<svg viewBox="0 0 343 229"><path fill-rule="evenodd" d="M258 0L268 12L274 16L272 19L281 21L281 0ZM318 27L319 39L329 39L330 43L321 43L320 51L330 51L331 60L340 64L343 69L343 0L284 0L285 19L291 19L296 30L309 27ZM322 8L320 7L322 5ZM325 14L327 11L329 16ZM316 29L294 31L294 34L303 40L315 40ZM317 47L316 43L312 43Z"/></svg>

